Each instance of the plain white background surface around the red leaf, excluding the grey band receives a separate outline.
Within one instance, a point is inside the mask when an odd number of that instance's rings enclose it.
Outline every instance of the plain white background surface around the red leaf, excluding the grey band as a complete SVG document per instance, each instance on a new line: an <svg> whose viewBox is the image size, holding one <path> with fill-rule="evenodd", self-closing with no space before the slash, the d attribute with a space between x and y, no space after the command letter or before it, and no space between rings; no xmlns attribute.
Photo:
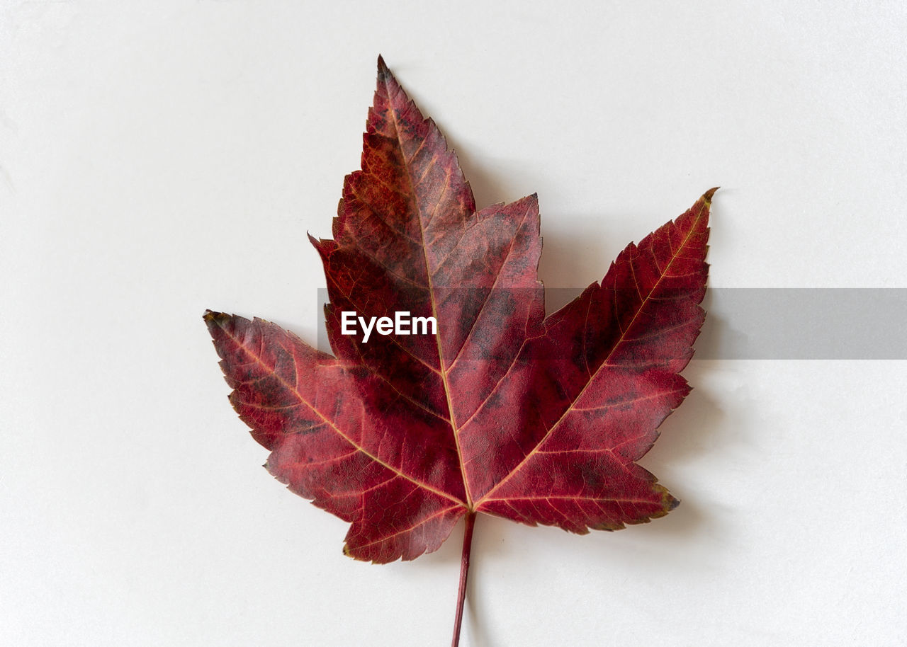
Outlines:
<svg viewBox="0 0 907 647"><path fill-rule="evenodd" d="M684 5L0 3L0 643L449 642L462 526L341 555L201 320L314 341L306 233L378 53L480 206L538 192L547 285L721 185L711 285L907 286L902 3ZM464 645L907 643L907 362L686 376L642 461L683 504L588 536L480 518Z"/></svg>

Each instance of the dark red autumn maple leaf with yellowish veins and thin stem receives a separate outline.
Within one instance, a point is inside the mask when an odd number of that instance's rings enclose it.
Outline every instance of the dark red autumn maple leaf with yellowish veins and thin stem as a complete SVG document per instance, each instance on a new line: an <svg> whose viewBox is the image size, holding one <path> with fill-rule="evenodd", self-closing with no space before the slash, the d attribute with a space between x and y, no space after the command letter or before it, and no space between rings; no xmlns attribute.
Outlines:
<svg viewBox="0 0 907 647"><path fill-rule="evenodd" d="M311 238L334 356L205 314L271 474L349 522L344 551L376 563L434 551L461 517L468 563L478 513L582 534L676 507L636 461L689 392L715 189L546 318L536 197L477 211L380 58L363 140L333 238ZM460 613L464 582L465 568Z"/></svg>

